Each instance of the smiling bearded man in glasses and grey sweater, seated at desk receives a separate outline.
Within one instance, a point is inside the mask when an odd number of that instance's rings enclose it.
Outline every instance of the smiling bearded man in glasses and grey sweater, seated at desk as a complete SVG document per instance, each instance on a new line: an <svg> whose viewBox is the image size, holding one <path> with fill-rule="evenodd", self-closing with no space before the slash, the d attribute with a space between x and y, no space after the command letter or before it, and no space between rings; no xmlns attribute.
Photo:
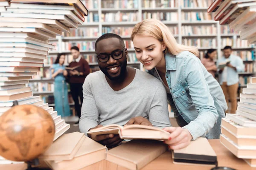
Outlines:
<svg viewBox="0 0 256 170"><path fill-rule="evenodd" d="M127 67L128 51L119 35L102 35L95 51L101 71L87 76L83 85L82 133L110 124L148 124L147 119L156 127L171 126L163 85L150 74ZM108 147L122 141L113 134L88 136Z"/></svg>

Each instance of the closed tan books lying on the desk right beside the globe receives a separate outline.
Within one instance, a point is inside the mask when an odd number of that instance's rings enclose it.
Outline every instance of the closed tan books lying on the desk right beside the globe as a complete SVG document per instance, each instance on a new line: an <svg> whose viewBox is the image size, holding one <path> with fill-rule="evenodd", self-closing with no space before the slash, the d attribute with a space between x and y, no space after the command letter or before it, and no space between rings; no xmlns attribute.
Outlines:
<svg viewBox="0 0 256 170"><path fill-rule="evenodd" d="M107 147L74 132L62 135L39 159L54 170L80 170L106 158Z"/></svg>

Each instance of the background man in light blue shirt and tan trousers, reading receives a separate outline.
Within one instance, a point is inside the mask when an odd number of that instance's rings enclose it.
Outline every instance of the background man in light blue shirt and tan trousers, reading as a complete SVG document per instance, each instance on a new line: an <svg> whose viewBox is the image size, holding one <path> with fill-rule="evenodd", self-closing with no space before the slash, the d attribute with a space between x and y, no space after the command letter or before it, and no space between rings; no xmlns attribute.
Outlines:
<svg viewBox="0 0 256 170"><path fill-rule="evenodd" d="M237 90L239 87L238 73L244 71L244 64L240 57L231 54L232 48L230 46L224 47L223 52L224 57L218 60L218 64L221 62L227 62L227 64L224 68L219 69L219 83L227 104L229 103L228 99L230 99L231 102L231 109L229 107L226 113L236 113Z"/></svg>

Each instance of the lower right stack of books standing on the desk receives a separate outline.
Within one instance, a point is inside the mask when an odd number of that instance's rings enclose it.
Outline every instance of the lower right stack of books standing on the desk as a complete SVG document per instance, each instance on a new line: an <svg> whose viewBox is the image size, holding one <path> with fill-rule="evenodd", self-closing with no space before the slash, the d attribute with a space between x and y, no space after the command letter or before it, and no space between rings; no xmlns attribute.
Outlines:
<svg viewBox="0 0 256 170"><path fill-rule="evenodd" d="M221 143L235 156L256 167L256 77L240 94L236 114L221 122Z"/></svg>

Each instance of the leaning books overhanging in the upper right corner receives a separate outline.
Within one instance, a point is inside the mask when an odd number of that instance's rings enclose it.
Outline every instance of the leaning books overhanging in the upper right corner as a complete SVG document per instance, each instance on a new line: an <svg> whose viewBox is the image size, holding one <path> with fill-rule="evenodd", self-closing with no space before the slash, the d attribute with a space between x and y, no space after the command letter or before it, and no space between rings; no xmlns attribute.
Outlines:
<svg viewBox="0 0 256 170"><path fill-rule="evenodd" d="M256 42L256 0L215 0L208 8L215 21L240 31L240 39Z"/></svg>

